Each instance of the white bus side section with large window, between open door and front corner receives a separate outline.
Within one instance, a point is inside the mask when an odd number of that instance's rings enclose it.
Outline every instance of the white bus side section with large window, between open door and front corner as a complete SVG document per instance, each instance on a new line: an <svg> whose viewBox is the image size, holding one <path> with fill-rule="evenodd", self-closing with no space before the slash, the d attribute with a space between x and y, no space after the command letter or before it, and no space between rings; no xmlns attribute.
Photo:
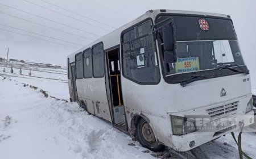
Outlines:
<svg viewBox="0 0 256 159"><path fill-rule="evenodd" d="M163 131L168 120L160 96L163 87L152 26L152 19L144 19L121 34L123 103L131 134L135 133L137 119L141 117L150 124L156 139L166 136L164 140L168 141L168 134L159 134L170 131Z"/></svg>

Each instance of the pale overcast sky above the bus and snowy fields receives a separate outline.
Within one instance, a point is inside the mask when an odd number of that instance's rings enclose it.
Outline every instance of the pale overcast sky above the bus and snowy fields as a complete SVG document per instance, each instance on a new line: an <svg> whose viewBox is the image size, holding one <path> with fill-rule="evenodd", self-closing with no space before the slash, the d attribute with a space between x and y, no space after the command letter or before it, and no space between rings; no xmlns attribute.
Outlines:
<svg viewBox="0 0 256 159"><path fill-rule="evenodd" d="M243 58L256 71L255 0L0 0L0 57L9 47L10 58L66 65L67 55L150 9L231 15Z"/></svg>

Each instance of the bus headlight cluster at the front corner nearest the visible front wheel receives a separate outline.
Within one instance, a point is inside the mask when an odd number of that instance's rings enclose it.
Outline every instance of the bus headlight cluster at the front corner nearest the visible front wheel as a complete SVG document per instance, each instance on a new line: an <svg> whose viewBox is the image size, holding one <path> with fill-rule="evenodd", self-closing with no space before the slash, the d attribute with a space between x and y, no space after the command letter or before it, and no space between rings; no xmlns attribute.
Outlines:
<svg viewBox="0 0 256 159"><path fill-rule="evenodd" d="M185 135L196 131L194 119L188 119L180 116L171 116L172 133L174 135Z"/></svg>

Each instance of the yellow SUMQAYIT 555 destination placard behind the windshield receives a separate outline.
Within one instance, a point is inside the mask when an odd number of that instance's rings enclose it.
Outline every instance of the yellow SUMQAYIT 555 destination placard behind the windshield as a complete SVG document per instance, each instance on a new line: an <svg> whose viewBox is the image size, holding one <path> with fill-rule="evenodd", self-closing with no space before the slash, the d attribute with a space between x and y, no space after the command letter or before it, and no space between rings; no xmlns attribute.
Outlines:
<svg viewBox="0 0 256 159"><path fill-rule="evenodd" d="M175 63L176 73L193 72L197 70L200 70L199 57L177 58L177 62Z"/></svg>

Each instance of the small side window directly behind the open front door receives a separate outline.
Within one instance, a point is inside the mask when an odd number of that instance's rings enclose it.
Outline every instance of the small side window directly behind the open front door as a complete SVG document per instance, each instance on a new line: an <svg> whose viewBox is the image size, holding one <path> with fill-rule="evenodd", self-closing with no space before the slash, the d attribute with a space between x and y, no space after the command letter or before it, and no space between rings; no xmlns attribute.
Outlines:
<svg viewBox="0 0 256 159"><path fill-rule="evenodd" d="M92 47L93 51L93 77L104 77L104 50L103 43L98 43Z"/></svg>

